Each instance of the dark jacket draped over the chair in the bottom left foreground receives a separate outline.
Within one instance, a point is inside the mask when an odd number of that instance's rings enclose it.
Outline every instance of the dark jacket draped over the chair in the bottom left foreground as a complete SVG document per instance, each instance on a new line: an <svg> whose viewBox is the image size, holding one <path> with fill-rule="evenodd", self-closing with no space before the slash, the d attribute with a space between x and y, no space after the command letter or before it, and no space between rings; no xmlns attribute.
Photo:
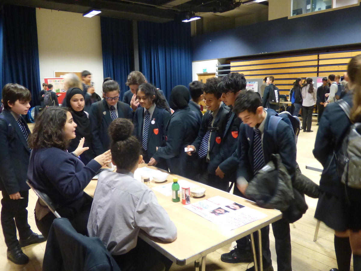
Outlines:
<svg viewBox="0 0 361 271"><path fill-rule="evenodd" d="M57 218L51 225L43 271L120 271L98 237L77 233L69 220Z"/></svg>

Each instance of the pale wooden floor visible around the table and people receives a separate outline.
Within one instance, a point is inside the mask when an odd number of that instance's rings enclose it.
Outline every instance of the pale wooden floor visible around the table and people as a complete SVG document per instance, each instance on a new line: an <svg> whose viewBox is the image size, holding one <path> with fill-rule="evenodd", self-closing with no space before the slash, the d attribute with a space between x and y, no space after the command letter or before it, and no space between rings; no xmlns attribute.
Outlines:
<svg viewBox="0 0 361 271"><path fill-rule="evenodd" d="M305 168L306 164L316 162L313 157L312 150L317 133L316 122L313 122L313 133L301 132L297 143L297 162L301 171L311 180L319 183L320 173ZM1 195L0 195L1 197ZM29 195L29 224L34 232L39 232L34 221L34 207L36 195L30 190ZM313 242L313 236L316 227L316 219L313 218L317 205L317 199L306 196L306 202L309 206L306 214L291 225L291 242L292 242L292 269L294 271L329 271L333 267L337 267L335 250L334 250L334 234L323 223L319 228L318 240ZM271 228L272 231L272 228ZM276 253L274 247L274 237L270 233L271 253L273 267L277 270ZM24 253L30 258L30 262L24 266L13 264L6 259L6 246L4 244L4 236L0 233L0 271L5 270L42 270L42 262L44 256L46 242L39 245L31 245L24 249ZM209 254L206 260L206 270L228 270L243 271L248 264L230 264L221 261L222 253L229 252L233 248L235 242L229 244L217 251ZM351 263L352 264L352 263ZM252 264L249 264L251 266ZM171 271L191 271L194 270L193 264L187 266L176 266L173 264ZM353 268L351 267L351 271Z"/></svg>

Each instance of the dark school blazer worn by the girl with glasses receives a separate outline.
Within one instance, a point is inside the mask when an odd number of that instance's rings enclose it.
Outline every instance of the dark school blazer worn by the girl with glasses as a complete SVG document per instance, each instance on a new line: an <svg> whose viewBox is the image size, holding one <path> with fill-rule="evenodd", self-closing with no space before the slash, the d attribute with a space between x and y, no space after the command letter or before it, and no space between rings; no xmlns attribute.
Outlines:
<svg viewBox="0 0 361 271"><path fill-rule="evenodd" d="M102 114L103 117L101 119L101 123L99 123L99 104L102 106ZM130 107L118 101L117 103L118 117L132 120L133 114ZM90 108L89 115L91 127L92 127L92 146L95 155L100 155L103 152L109 150L110 147L110 139L108 136L108 127L112 122L112 117L110 116L110 110L108 107L108 103L105 99L93 103Z"/></svg>

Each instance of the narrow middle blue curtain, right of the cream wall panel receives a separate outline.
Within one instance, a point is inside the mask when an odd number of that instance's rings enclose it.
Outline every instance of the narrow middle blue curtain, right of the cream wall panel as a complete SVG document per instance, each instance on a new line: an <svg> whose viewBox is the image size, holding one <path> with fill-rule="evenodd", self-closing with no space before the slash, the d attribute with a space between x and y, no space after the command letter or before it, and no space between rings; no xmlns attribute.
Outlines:
<svg viewBox="0 0 361 271"><path fill-rule="evenodd" d="M132 21L100 17L100 29L104 77L117 81L123 96L132 64Z"/></svg>

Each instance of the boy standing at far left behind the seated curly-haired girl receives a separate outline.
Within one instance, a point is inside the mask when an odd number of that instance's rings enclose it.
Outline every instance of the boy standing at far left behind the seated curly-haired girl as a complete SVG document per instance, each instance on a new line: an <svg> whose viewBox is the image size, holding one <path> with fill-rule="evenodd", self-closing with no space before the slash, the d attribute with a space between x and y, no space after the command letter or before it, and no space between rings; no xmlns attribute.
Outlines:
<svg viewBox="0 0 361 271"><path fill-rule="evenodd" d="M18 84L6 84L3 88L4 111L0 114L0 190L1 226L7 257L16 264L26 264L29 258L21 247L46 240L32 232L27 223L29 186L26 173L29 166L30 149L27 138L30 130L21 115L30 108L31 94ZM16 229L19 233L17 240Z"/></svg>

